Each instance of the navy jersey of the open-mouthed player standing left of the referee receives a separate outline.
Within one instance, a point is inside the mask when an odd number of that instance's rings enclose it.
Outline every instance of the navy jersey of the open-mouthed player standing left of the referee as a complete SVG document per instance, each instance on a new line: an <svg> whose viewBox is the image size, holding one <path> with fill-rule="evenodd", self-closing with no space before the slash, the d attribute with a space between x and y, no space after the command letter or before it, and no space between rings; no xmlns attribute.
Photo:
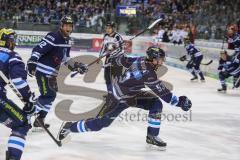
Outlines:
<svg viewBox="0 0 240 160"><path fill-rule="evenodd" d="M50 32L33 48L30 60L37 61L37 71L57 76L60 65L70 59L70 49L60 31Z"/></svg>

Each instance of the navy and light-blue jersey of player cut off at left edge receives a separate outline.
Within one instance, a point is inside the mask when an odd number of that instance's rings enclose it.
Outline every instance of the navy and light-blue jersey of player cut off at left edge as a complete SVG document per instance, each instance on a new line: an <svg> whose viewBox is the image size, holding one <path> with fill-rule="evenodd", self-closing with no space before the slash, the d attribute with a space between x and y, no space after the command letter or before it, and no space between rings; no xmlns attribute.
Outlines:
<svg viewBox="0 0 240 160"><path fill-rule="evenodd" d="M19 54L7 48L0 47L0 70L12 81L23 99L28 100L31 92L26 81L27 71ZM0 78L0 98L6 98L5 86L6 83Z"/></svg>

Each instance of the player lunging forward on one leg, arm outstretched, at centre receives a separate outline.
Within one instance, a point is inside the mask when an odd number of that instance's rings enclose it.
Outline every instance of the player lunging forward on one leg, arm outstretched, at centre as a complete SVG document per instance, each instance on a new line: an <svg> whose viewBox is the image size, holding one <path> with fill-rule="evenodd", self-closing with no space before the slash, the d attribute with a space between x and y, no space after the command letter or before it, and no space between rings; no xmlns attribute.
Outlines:
<svg viewBox="0 0 240 160"><path fill-rule="evenodd" d="M146 57L118 56L113 65L122 65L127 69L124 74L113 81L113 93L108 95L109 111L102 117L86 119L78 122L66 122L59 132L59 140L63 140L70 132L81 133L99 131L108 127L114 119L129 106L149 110L146 142L153 146L166 147L166 143L159 137L161 124L162 102L159 98L171 105L188 111L192 103L186 96L177 97L171 93L161 80L157 78L156 70L165 60L165 52L151 46L146 51ZM148 86L155 94L141 89Z"/></svg>

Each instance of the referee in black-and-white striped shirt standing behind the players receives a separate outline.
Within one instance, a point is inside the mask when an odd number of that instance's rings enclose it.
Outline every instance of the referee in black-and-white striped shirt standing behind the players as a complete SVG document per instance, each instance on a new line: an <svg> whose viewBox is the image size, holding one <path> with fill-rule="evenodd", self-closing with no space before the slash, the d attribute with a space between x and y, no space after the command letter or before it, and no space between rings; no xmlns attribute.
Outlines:
<svg viewBox="0 0 240 160"><path fill-rule="evenodd" d="M112 92L112 78L122 75L122 66L112 66L112 58L124 53L123 38L115 30L115 23L108 22L106 24L106 34L103 37L103 45L99 56L107 55L104 64L104 79L107 86L107 91ZM114 51L113 51L114 50Z"/></svg>

